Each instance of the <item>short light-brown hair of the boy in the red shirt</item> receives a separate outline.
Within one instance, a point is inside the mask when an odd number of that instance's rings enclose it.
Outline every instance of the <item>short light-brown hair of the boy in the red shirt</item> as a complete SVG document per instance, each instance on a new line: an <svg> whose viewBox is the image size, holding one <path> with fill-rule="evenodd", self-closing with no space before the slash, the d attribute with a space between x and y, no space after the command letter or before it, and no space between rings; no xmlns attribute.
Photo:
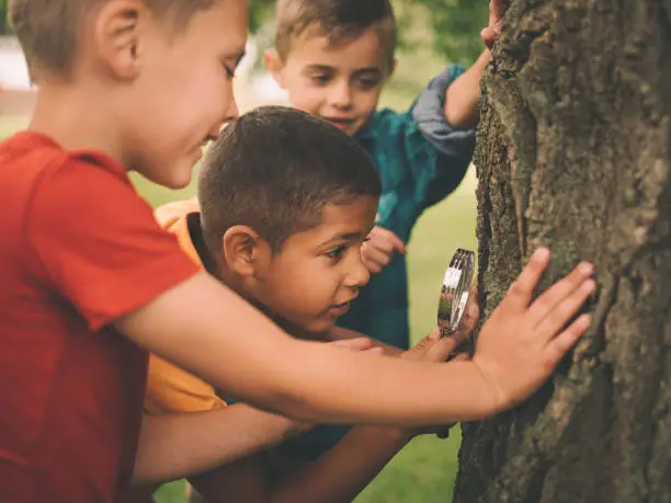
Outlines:
<svg viewBox="0 0 671 503"><path fill-rule="evenodd" d="M37 80L45 73L67 77L77 55L80 23L95 5L107 0L9 0L12 26L31 72ZM194 12L214 0L145 0L152 12L187 24Z"/></svg>

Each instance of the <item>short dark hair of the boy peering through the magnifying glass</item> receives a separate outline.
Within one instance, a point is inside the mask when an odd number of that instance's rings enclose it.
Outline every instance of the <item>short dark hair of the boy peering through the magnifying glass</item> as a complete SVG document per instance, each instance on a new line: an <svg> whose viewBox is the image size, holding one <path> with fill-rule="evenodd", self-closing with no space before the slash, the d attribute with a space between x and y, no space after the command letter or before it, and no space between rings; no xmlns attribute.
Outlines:
<svg viewBox="0 0 671 503"><path fill-rule="evenodd" d="M226 231L244 225L277 253L318 226L325 206L380 192L373 161L345 133L296 108L261 106L224 128L201 165L203 237L218 255Z"/></svg>

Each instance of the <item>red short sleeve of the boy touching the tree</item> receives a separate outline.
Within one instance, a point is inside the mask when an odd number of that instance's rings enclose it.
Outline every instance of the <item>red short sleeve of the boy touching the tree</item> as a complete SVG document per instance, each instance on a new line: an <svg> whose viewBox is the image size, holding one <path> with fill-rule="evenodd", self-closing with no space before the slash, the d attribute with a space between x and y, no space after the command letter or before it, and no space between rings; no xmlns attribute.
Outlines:
<svg viewBox="0 0 671 503"><path fill-rule="evenodd" d="M109 162L65 157L42 175L25 220L38 277L93 331L197 272L125 171Z"/></svg>

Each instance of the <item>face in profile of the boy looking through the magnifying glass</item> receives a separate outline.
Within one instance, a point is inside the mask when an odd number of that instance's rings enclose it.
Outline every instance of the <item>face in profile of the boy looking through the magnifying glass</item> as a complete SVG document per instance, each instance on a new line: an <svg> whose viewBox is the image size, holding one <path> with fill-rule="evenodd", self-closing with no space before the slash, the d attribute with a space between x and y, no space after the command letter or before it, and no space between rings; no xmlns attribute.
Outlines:
<svg viewBox="0 0 671 503"><path fill-rule="evenodd" d="M373 227L377 197L327 205L321 222L292 235L248 291L272 315L311 334L333 327L369 278L361 245Z"/></svg>

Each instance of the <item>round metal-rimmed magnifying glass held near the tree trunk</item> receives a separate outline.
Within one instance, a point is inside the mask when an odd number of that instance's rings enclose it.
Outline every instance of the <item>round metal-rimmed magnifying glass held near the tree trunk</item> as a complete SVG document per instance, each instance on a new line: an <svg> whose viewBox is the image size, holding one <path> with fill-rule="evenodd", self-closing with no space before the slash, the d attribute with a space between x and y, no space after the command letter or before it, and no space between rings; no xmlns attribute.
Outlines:
<svg viewBox="0 0 671 503"><path fill-rule="evenodd" d="M445 271L437 309L441 335L456 332L470 296L470 283L475 271L475 253L458 248Z"/></svg>

